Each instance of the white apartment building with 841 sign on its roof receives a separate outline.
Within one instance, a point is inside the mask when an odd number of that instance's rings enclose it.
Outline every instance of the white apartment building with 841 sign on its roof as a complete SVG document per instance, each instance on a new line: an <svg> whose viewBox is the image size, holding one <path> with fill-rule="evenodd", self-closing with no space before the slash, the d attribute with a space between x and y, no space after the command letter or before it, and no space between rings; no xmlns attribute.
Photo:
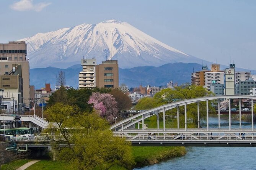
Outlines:
<svg viewBox="0 0 256 170"><path fill-rule="evenodd" d="M96 59L81 59L83 71L79 72L78 88L96 87Z"/></svg>

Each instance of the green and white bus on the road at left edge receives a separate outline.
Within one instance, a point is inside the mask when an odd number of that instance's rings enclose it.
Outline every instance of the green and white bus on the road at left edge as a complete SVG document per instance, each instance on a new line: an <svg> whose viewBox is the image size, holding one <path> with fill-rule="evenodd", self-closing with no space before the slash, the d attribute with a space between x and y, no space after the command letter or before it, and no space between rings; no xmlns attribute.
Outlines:
<svg viewBox="0 0 256 170"><path fill-rule="evenodd" d="M20 136L20 135L34 135L34 130L33 128L25 128L25 127L21 127L21 128L15 128L15 129L0 129L0 134L4 134L6 136Z"/></svg>

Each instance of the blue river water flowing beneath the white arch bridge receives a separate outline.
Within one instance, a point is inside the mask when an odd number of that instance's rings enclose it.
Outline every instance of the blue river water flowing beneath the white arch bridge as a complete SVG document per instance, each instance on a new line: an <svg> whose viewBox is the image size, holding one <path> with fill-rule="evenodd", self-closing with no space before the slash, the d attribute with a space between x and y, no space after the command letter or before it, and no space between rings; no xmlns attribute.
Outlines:
<svg viewBox="0 0 256 170"><path fill-rule="evenodd" d="M221 128L228 128L222 119ZM202 125L204 127L204 125ZM218 118L209 117L209 128L218 128ZM232 128L239 121L232 120ZM251 123L242 122L242 128ZM187 154L136 170L256 170L256 147L186 147Z"/></svg>

